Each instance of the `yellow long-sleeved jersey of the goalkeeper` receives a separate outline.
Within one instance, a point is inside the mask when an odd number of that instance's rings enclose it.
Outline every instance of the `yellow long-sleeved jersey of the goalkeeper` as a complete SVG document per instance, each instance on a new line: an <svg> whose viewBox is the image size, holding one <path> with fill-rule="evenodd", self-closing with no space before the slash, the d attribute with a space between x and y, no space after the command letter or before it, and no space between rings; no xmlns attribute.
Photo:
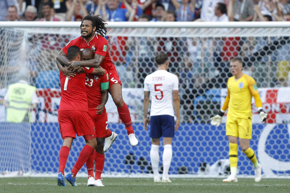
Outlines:
<svg viewBox="0 0 290 193"><path fill-rule="evenodd" d="M227 97L222 109L226 111L228 108L228 116L252 119L252 96L257 108L262 107L256 81L246 74L237 81L232 76L227 81Z"/></svg>

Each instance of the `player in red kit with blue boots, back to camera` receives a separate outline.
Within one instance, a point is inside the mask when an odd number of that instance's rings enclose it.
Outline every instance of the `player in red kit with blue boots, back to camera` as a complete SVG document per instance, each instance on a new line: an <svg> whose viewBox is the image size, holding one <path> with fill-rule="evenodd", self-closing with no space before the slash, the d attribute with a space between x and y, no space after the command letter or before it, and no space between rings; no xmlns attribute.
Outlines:
<svg viewBox="0 0 290 193"><path fill-rule="evenodd" d="M68 49L70 60L79 60L79 47L71 46ZM96 74L99 70L94 68L84 68L85 73ZM76 174L84 165L92 151L97 147L94 122L89 115L87 103L87 94L85 88L85 73L76 74L69 79L60 72L60 87L61 100L58 109L58 122L60 126L60 134L63 138L63 146L60 148L59 154L59 174L57 176L57 185L65 186L64 168L69 156L69 150L73 139L78 136L83 136L86 144L79 153L79 158L73 166L72 171L65 176L66 180L72 185L76 184Z"/></svg>

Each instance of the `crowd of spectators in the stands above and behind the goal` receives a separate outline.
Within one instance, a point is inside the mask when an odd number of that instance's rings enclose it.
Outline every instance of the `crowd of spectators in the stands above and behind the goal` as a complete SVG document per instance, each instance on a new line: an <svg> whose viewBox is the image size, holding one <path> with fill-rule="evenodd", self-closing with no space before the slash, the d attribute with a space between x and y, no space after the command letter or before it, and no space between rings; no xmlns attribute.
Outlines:
<svg viewBox="0 0 290 193"><path fill-rule="evenodd" d="M288 0L0 2L1 21L82 21L90 12L92 15L101 14L105 21L290 21ZM30 37L32 46L29 52L33 57L27 63L32 66L29 71L34 81L38 68L42 71L58 70L56 54L74 38L57 34L35 34ZM182 122L200 119L192 115L193 100L196 97L208 89L226 87L225 82L231 76L228 68L231 58L243 59L243 72L253 76L258 87L288 86L289 37L221 37L203 40L186 37L138 37L137 40L135 37L106 38L117 71L124 72L119 73L124 87L143 87L146 75L157 68L154 55L160 51L167 52L171 61L169 71L179 77ZM41 65L34 65L37 63ZM269 67L268 70L266 67ZM270 74L270 78L265 78L265 74ZM196 108L200 109L199 115L203 114L202 106Z"/></svg>

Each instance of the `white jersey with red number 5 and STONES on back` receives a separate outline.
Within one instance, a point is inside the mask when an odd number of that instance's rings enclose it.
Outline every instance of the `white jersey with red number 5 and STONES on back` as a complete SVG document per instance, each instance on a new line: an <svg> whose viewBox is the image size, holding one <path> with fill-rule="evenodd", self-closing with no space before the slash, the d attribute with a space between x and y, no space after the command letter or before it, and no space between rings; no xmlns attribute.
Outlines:
<svg viewBox="0 0 290 193"><path fill-rule="evenodd" d="M173 90L178 90L178 78L166 70L157 70L146 76L144 91L150 91L150 116L174 116Z"/></svg>

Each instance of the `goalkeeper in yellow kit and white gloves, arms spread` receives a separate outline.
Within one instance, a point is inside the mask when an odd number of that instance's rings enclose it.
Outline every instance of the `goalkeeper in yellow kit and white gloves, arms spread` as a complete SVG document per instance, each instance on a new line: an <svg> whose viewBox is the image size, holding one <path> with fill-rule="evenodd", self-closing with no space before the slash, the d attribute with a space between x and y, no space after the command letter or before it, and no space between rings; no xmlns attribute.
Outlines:
<svg viewBox="0 0 290 193"><path fill-rule="evenodd" d="M233 74L227 81L227 97L224 106L211 118L211 125L219 126L222 116L228 108L226 135L229 140L230 176L223 182L237 182L238 139L240 147L255 167L255 181L262 179L262 167L254 151L250 148L252 139L252 96L255 99L261 121L267 119L267 114L262 109L262 102L258 93L256 81L242 72L243 62L240 58L230 61L230 70Z"/></svg>

